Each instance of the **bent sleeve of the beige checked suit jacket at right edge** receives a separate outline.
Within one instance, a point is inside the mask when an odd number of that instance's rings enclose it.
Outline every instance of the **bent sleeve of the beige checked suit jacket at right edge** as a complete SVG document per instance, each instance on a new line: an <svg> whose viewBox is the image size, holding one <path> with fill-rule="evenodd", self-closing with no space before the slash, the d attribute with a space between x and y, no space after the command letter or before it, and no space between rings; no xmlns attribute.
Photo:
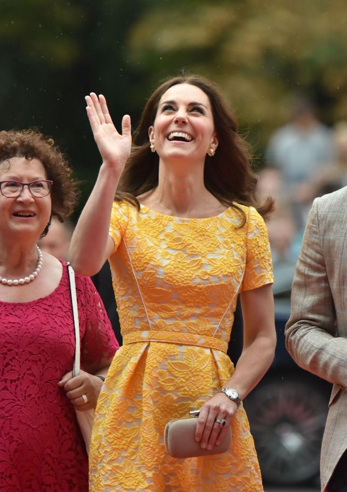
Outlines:
<svg viewBox="0 0 347 492"><path fill-rule="evenodd" d="M347 386L347 339L336 336L336 313L322 253L319 198L306 225L292 285L286 348L295 362L317 376Z"/></svg>

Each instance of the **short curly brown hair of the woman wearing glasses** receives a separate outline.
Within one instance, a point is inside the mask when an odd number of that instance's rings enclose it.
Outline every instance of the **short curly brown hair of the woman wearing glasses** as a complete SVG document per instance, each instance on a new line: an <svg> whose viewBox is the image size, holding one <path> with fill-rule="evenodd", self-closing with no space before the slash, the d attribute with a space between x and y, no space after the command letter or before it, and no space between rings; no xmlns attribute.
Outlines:
<svg viewBox="0 0 347 492"><path fill-rule="evenodd" d="M51 188L52 215L61 222L63 216L73 212L79 192L73 179L72 169L54 140L45 137L35 129L0 131L0 163L11 157L33 158L42 162L48 180L53 181ZM47 234L50 222L40 237Z"/></svg>

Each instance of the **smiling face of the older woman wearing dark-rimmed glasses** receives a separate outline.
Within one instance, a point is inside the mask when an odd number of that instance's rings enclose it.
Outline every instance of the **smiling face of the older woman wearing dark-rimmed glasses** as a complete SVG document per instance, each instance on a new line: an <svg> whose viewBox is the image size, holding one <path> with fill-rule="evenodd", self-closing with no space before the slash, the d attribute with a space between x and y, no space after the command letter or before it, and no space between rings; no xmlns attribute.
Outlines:
<svg viewBox="0 0 347 492"><path fill-rule="evenodd" d="M0 181L30 183L47 179L43 164L36 158L11 157L0 163ZM28 186L17 198L0 194L0 235L40 236L51 215L51 195L32 196ZM15 237L15 236L13 236Z"/></svg>

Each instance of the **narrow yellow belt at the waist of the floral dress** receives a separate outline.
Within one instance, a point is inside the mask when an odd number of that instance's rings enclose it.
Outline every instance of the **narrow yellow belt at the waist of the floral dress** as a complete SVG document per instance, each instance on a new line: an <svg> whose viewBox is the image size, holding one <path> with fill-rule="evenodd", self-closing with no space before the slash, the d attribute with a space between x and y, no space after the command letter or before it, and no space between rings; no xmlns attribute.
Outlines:
<svg viewBox="0 0 347 492"><path fill-rule="evenodd" d="M197 347L214 348L226 354L228 342L219 338L205 337L194 333L165 332L149 330L147 332L127 332L123 334L123 344L158 341L177 345L195 345Z"/></svg>

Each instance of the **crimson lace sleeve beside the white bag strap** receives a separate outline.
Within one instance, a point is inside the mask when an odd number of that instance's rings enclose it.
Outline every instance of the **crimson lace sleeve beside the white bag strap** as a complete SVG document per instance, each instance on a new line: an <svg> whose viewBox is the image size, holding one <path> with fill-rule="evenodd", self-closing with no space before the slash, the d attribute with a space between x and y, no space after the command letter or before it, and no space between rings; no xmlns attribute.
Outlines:
<svg viewBox="0 0 347 492"><path fill-rule="evenodd" d="M78 283L83 285L84 290L84 295L82 295L84 306L79 306L79 310L84 309L84 316L81 316L84 326L80 327L81 362L82 366L94 365L101 359L111 359L118 350L119 344L91 278L78 277ZM81 297L78 300L80 304Z"/></svg>

